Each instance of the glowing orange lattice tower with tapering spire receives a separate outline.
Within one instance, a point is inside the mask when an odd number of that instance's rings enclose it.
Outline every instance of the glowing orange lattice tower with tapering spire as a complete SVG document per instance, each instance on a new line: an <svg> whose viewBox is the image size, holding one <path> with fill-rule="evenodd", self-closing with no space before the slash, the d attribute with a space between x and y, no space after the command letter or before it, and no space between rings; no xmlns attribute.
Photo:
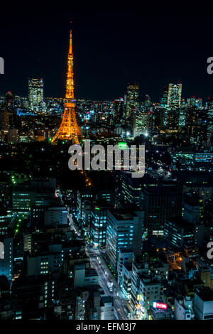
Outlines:
<svg viewBox="0 0 213 334"><path fill-rule="evenodd" d="M72 55L72 30L70 30L70 49L67 57L67 82L65 95L65 109L62 116L62 122L53 141L72 140L79 144L79 138L82 136L80 127L77 125L75 117L75 99L74 99L74 80L73 80L73 55Z"/></svg>

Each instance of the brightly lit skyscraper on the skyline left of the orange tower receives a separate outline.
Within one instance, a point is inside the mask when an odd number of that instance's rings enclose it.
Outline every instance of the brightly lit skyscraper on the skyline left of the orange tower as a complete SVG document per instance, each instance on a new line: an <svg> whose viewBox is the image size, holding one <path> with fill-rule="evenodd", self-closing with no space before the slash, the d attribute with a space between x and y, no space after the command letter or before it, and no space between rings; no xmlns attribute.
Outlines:
<svg viewBox="0 0 213 334"><path fill-rule="evenodd" d="M42 112L43 109L43 80L28 80L28 99L29 106L33 112Z"/></svg>

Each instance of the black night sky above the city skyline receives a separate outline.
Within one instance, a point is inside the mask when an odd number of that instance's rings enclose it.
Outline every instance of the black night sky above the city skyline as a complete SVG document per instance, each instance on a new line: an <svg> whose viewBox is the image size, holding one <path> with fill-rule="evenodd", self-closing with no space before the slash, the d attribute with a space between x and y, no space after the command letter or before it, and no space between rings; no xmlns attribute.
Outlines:
<svg viewBox="0 0 213 334"><path fill-rule="evenodd" d="M64 97L72 21L75 97L123 97L129 81L158 102L169 82L182 96L213 97L212 17L144 16L146 11L15 12L0 23L0 94L28 95L28 77L42 77L45 97Z"/></svg>

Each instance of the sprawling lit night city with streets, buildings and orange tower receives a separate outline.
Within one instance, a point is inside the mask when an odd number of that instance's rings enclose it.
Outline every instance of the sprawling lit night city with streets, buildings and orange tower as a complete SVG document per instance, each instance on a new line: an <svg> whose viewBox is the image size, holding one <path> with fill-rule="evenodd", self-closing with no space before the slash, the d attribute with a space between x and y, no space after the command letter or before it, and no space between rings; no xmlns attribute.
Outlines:
<svg viewBox="0 0 213 334"><path fill-rule="evenodd" d="M75 33L65 95L37 76L27 96L4 92L0 75L0 319L213 320L213 93L168 77L159 100L134 80L78 98ZM87 140L119 150L119 168L70 170ZM142 177L122 164L133 145Z"/></svg>

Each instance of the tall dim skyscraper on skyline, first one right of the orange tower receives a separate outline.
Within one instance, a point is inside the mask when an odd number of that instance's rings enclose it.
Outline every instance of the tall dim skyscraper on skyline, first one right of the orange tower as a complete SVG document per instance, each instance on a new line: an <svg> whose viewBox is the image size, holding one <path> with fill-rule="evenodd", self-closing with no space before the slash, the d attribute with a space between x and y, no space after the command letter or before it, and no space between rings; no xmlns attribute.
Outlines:
<svg viewBox="0 0 213 334"><path fill-rule="evenodd" d="M134 114L138 111L139 88L135 82L128 84L126 92L126 124L131 124Z"/></svg>

